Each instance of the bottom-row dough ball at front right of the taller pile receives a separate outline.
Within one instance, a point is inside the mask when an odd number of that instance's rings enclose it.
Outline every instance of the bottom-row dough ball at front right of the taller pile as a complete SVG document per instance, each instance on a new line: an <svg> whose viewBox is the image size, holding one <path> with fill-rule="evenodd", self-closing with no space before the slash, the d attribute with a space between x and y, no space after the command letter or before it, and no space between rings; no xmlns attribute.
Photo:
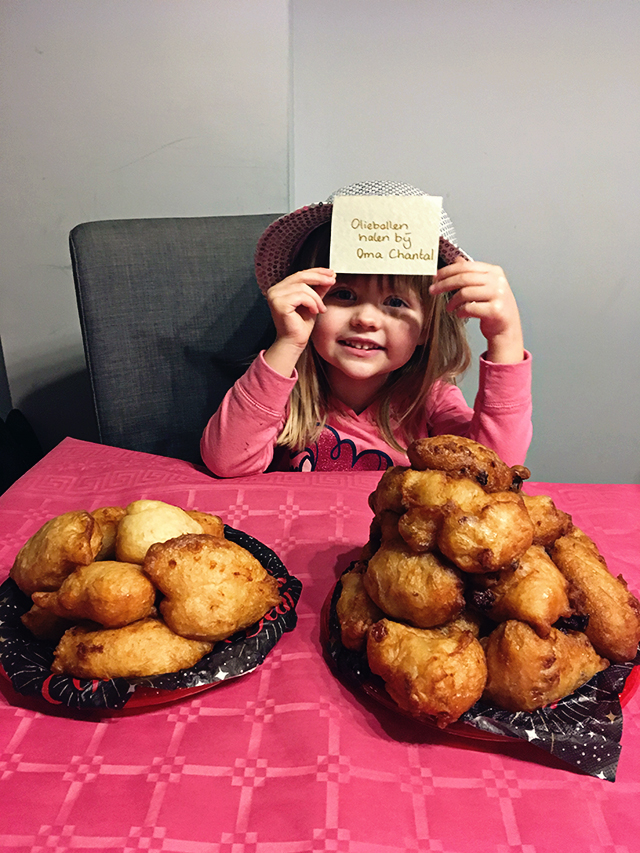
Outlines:
<svg viewBox="0 0 640 853"><path fill-rule="evenodd" d="M488 677L482 698L506 711L557 702L609 666L585 634L552 628L546 639L513 619L483 640Z"/></svg>

